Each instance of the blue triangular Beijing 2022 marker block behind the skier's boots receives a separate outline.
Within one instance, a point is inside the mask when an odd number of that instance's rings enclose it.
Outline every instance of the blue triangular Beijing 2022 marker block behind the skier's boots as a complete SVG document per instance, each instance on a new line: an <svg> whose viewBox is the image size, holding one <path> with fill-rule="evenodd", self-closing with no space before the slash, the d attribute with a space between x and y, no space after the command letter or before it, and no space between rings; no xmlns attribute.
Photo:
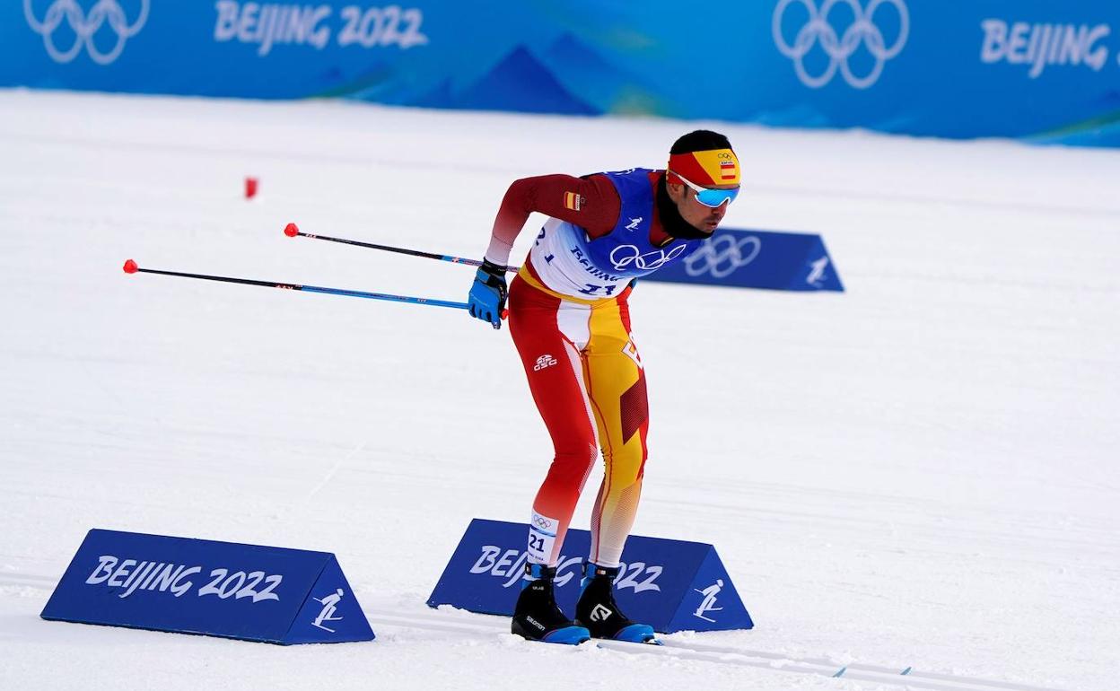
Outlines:
<svg viewBox="0 0 1120 691"><path fill-rule="evenodd" d="M521 592L528 554L523 523L475 519L467 526L428 605L510 616ZM569 530L557 566L557 603L576 610L586 530ZM661 633L752 628L716 548L702 542L631 535L615 597L626 616Z"/></svg>

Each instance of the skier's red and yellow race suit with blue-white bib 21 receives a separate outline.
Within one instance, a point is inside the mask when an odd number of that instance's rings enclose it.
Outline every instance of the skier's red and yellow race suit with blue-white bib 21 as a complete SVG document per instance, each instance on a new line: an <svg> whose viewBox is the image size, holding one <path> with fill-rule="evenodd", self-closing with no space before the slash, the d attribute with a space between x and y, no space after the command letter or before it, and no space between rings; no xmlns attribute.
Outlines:
<svg viewBox="0 0 1120 691"><path fill-rule="evenodd" d="M600 450L605 476L592 508L590 560L618 566L634 523L648 407L627 298L635 279L684 259L702 242L665 233L655 199L662 177L631 169L528 178L503 200L487 251L492 260L507 258L516 235L498 228L520 230L532 211L552 216L508 296L510 333L556 449L533 502L530 562L558 563Z"/></svg>

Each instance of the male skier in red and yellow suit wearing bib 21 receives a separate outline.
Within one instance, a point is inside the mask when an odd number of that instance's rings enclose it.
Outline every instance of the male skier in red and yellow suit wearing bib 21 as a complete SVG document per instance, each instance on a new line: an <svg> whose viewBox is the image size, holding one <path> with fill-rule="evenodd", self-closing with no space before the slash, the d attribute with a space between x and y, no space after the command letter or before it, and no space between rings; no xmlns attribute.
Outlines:
<svg viewBox="0 0 1120 691"><path fill-rule="evenodd" d="M683 260L711 236L739 179L728 139L697 130L673 143L665 170L524 178L502 199L469 312L501 328L508 296L510 333L556 447L533 502L526 580L511 625L517 635L567 644L589 636L656 642L653 628L628 619L614 599L642 492L648 428L627 298L635 279ZM507 291L510 252L532 212L550 218ZM553 579L599 448L606 473L572 620L556 603Z"/></svg>

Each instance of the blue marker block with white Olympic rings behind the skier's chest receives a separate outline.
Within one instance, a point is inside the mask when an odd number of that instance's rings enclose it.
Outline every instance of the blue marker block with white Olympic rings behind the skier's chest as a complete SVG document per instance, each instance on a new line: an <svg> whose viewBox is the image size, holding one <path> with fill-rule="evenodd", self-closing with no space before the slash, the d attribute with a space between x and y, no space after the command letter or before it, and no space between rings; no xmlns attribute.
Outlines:
<svg viewBox="0 0 1120 691"><path fill-rule="evenodd" d="M820 235L719 228L683 262L642 279L772 290L843 291Z"/></svg>

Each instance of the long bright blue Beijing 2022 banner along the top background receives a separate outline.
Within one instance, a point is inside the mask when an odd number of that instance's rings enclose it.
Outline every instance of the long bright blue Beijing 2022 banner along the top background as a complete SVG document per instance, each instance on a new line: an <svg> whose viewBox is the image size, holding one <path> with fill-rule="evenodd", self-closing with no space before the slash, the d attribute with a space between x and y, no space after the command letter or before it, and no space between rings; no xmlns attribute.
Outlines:
<svg viewBox="0 0 1120 691"><path fill-rule="evenodd" d="M1120 2L9 0L20 85L1120 146Z"/></svg>

